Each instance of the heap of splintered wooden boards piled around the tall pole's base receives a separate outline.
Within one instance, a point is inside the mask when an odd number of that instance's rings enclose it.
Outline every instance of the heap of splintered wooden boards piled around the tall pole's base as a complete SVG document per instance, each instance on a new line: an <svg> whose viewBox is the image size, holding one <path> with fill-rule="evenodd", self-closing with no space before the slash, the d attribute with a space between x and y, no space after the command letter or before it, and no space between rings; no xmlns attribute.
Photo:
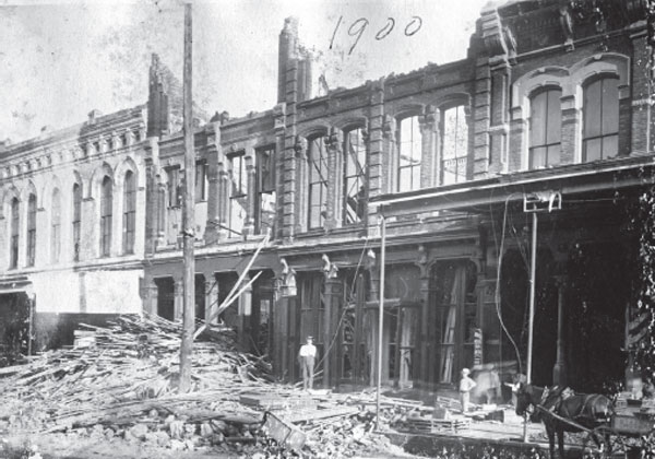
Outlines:
<svg viewBox="0 0 655 459"><path fill-rule="evenodd" d="M180 323L127 316L109 327L82 328L94 332L93 344L84 340L84 346L2 368L0 420L41 432L129 420L164 405L164 411L193 402L238 405L240 391L270 380L262 358L237 352L229 338L210 330L205 341L194 343L194 391L178 395Z"/></svg>

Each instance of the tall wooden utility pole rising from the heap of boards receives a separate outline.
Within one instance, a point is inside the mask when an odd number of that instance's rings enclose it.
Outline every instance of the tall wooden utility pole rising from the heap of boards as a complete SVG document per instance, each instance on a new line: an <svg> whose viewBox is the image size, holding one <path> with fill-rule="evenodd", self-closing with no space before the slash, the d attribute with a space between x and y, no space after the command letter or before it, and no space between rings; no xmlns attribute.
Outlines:
<svg viewBox="0 0 655 459"><path fill-rule="evenodd" d="M193 332L195 331L195 259L193 244L195 242L194 189L195 189L195 152L193 151L193 110L191 96L191 69L193 34L191 3L184 4L184 199L182 202L182 240L183 240L183 322L182 344L180 348L180 392L191 390L191 351L193 350Z"/></svg>

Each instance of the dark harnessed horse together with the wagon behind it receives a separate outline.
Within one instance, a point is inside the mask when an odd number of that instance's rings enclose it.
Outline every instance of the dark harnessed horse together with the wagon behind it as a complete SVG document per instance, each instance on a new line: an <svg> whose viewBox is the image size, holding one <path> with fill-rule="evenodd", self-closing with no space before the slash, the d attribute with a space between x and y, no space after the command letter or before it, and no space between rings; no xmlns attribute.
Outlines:
<svg viewBox="0 0 655 459"><path fill-rule="evenodd" d="M533 407L533 410L529 410ZM583 458L655 459L655 409L615 407L600 395L523 386L517 392L516 413L531 413L546 427L550 457L555 457L557 434L559 457L563 458L564 432L583 433Z"/></svg>

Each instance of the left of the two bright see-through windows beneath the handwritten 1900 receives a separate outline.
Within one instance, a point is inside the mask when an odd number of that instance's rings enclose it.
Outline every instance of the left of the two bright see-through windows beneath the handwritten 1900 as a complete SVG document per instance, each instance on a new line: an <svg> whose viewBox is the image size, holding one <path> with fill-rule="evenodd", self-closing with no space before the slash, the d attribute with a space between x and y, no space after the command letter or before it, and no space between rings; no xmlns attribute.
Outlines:
<svg viewBox="0 0 655 459"><path fill-rule="evenodd" d="M398 128L398 191L420 188L421 151L418 116L403 118Z"/></svg>

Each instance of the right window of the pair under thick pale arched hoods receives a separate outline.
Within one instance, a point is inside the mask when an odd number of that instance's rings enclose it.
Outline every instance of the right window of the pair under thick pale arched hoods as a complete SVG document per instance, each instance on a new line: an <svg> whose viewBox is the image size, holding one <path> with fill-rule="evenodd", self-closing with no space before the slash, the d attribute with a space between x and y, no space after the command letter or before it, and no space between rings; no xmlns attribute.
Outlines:
<svg viewBox="0 0 655 459"><path fill-rule="evenodd" d="M584 87L582 161L619 153L619 79L595 80Z"/></svg>

